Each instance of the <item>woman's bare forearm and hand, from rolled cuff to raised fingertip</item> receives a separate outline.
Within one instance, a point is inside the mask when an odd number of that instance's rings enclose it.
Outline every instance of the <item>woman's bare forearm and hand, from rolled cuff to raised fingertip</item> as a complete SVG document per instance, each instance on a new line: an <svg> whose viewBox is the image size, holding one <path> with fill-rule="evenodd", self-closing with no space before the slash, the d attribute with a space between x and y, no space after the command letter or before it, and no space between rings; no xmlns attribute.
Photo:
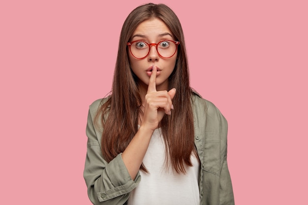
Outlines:
<svg viewBox="0 0 308 205"><path fill-rule="evenodd" d="M176 89L173 88L169 90L169 92L166 90L157 91L156 74L157 68L153 66L148 91L145 97L145 110L142 124L122 153L123 162L133 180L140 169L154 130L158 127L158 123L162 117L165 114L171 115L171 109L173 109L172 99Z"/></svg>

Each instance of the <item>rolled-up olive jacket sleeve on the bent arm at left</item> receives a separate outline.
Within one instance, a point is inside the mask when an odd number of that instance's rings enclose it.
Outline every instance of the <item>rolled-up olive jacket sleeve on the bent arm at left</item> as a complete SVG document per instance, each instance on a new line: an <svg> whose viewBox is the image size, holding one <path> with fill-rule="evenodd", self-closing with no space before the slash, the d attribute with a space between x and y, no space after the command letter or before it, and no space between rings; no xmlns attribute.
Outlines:
<svg viewBox="0 0 308 205"><path fill-rule="evenodd" d="M92 109L93 111L97 110ZM86 134L87 156L84 169L84 178L88 187L88 196L93 205L123 205L129 197L129 193L140 182L140 175L135 180L123 163L122 153L107 163L101 152L101 132L93 126L91 106L88 115Z"/></svg>

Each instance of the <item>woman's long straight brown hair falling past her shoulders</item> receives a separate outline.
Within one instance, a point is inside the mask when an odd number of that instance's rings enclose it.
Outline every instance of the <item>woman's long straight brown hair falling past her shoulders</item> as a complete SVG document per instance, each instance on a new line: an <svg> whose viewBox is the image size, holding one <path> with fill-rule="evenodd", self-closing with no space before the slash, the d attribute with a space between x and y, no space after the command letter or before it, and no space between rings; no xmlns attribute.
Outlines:
<svg viewBox="0 0 308 205"><path fill-rule="evenodd" d="M126 18L120 35L118 57L114 72L112 92L97 116L102 116L102 154L107 162L123 152L137 133L142 99L136 76L130 69L126 44L137 26L148 19L158 18L180 41L175 68L169 77L169 89L176 88L172 100L174 111L165 115L160 127L166 144L166 162L177 173L185 173L185 165L192 166L190 155L194 148L194 125L191 108L191 88L185 50L184 34L176 14L164 4L145 4L135 8ZM102 114L102 115L100 115ZM196 155L197 156L197 155ZM141 170L147 172L141 165Z"/></svg>

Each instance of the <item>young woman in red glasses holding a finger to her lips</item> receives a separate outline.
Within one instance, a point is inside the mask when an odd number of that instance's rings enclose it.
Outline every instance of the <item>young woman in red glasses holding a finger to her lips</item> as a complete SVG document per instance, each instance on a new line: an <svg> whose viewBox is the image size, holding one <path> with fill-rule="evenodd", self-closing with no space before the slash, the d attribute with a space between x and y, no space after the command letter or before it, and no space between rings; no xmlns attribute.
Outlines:
<svg viewBox="0 0 308 205"><path fill-rule="evenodd" d="M94 205L232 205L227 122L189 86L183 30L164 4L123 24L111 94L90 106Z"/></svg>

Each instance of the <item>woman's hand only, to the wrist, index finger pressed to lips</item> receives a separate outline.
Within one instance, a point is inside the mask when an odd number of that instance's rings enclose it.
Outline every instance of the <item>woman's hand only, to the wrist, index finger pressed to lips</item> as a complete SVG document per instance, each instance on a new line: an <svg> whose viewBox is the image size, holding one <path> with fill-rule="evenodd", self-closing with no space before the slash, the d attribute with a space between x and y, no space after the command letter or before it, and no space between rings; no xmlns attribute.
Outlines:
<svg viewBox="0 0 308 205"><path fill-rule="evenodd" d="M167 90L157 91L156 74L157 68L153 66L142 120L142 125L153 131L158 127L158 123L165 114L171 115L171 110L173 110L172 99L176 93L175 88L168 92Z"/></svg>

